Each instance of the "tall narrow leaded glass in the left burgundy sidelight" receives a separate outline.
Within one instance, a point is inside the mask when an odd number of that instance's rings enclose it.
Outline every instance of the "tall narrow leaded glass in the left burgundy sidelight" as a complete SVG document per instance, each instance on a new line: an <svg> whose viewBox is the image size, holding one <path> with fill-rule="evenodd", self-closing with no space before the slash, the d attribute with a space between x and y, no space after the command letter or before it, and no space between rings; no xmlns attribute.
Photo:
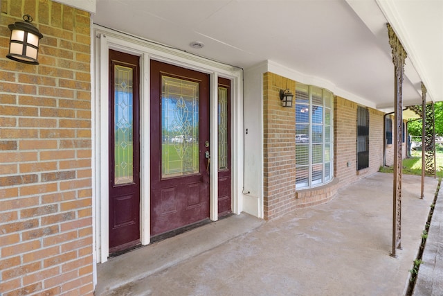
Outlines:
<svg viewBox="0 0 443 296"><path fill-rule="evenodd" d="M128 184L134 182L133 70L116 65L114 71L114 184Z"/></svg>

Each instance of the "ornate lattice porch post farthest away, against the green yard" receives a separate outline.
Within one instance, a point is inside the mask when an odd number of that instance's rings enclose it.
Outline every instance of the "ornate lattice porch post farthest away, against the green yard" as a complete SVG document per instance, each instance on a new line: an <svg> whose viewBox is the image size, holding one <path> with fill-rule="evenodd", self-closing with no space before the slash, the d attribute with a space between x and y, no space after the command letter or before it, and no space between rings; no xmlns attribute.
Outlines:
<svg viewBox="0 0 443 296"><path fill-rule="evenodd" d="M426 174L435 177L435 119L434 103L426 107L426 136L424 155L426 162Z"/></svg>

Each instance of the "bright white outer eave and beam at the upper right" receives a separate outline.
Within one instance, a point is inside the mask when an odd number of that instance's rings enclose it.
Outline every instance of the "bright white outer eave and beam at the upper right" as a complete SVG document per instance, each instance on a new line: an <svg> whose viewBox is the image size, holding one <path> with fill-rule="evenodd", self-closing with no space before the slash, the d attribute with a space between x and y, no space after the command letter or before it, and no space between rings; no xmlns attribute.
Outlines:
<svg viewBox="0 0 443 296"><path fill-rule="evenodd" d="M442 0L346 0L379 40L386 41L386 23L404 46L405 75L418 94L422 82L426 101L443 101L443 1ZM410 103L421 103L421 97ZM383 105L379 105L383 107Z"/></svg>

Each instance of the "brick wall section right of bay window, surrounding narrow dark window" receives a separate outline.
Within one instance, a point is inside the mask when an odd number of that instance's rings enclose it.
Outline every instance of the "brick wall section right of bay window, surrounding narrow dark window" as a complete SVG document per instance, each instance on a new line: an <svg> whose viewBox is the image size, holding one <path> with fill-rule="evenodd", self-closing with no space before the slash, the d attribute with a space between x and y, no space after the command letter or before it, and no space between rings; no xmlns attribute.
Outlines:
<svg viewBox="0 0 443 296"><path fill-rule="evenodd" d="M357 106L338 96L334 100L334 175L342 184L375 173L383 165L384 113L369 108L369 167L356 170Z"/></svg>

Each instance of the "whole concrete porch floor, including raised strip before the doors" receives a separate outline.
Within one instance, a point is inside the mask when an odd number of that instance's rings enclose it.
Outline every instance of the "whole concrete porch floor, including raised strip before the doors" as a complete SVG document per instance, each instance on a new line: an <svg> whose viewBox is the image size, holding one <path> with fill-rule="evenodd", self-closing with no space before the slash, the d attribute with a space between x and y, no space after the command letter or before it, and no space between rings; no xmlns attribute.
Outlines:
<svg viewBox="0 0 443 296"><path fill-rule="evenodd" d="M96 295L404 295L438 183L426 177L420 200L420 180L403 175L397 258L392 174L375 173L327 204L231 216L109 259Z"/></svg>

